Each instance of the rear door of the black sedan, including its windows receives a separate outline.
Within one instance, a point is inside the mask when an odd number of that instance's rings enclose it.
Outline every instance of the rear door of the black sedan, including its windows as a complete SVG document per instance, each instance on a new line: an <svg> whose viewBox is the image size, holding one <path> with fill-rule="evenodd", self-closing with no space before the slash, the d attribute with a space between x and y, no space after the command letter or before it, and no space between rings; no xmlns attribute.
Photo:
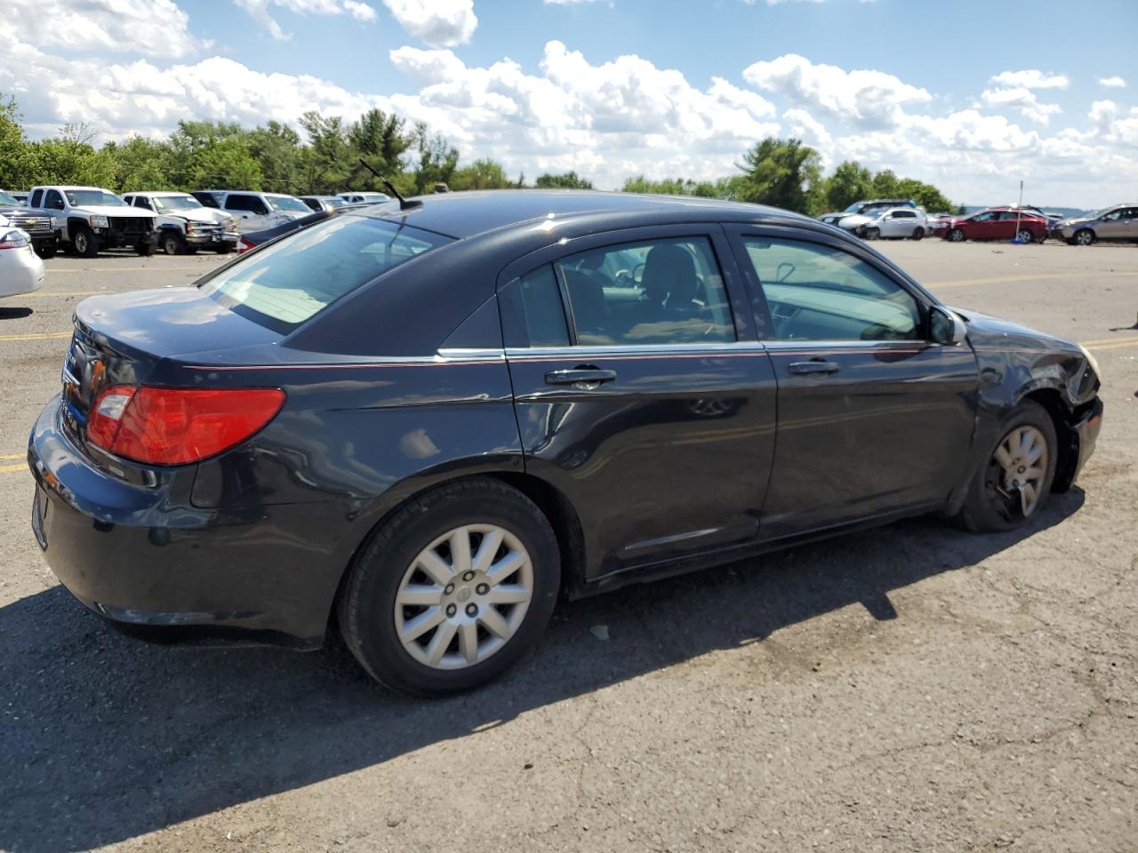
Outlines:
<svg viewBox="0 0 1138 853"><path fill-rule="evenodd" d="M578 238L500 284L527 471L588 577L756 541L776 388L721 229Z"/></svg>

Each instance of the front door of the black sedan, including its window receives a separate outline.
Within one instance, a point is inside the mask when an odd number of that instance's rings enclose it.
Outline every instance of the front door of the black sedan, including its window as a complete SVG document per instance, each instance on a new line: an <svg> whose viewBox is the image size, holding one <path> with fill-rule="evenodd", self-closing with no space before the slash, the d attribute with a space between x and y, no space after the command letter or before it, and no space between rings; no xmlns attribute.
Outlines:
<svg viewBox="0 0 1138 853"><path fill-rule="evenodd" d="M752 227L732 242L778 383L762 537L941 506L972 441L972 349L930 342L931 299L869 251Z"/></svg>

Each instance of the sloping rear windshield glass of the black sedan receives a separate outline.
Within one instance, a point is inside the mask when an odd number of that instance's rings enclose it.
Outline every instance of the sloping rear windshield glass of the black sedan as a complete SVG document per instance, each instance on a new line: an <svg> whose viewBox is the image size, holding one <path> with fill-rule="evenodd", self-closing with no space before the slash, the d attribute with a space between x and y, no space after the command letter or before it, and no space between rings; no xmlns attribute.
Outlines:
<svg viewBox="0 0 1138 853"><path fill-rule="evenodd" d="M380 273L448 242L429 231L340 215L281 238L201 287L251 320L288 331Z"/></svg>

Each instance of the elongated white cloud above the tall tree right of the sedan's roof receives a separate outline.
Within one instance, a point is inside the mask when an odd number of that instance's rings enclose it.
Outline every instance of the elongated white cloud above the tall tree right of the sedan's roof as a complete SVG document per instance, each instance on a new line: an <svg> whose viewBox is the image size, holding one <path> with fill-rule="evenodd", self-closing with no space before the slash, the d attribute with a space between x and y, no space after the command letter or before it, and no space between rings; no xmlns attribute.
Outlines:
<svg viewBox="0 0 1138 853"><path fill-rule="evenodd" d="M932 100L924 89L904 83L892 74L847 72L834 65L816 65L797 53L754 63L743 71L743 78L794 106L867 130L896 127L905 105Z"/></svg>

